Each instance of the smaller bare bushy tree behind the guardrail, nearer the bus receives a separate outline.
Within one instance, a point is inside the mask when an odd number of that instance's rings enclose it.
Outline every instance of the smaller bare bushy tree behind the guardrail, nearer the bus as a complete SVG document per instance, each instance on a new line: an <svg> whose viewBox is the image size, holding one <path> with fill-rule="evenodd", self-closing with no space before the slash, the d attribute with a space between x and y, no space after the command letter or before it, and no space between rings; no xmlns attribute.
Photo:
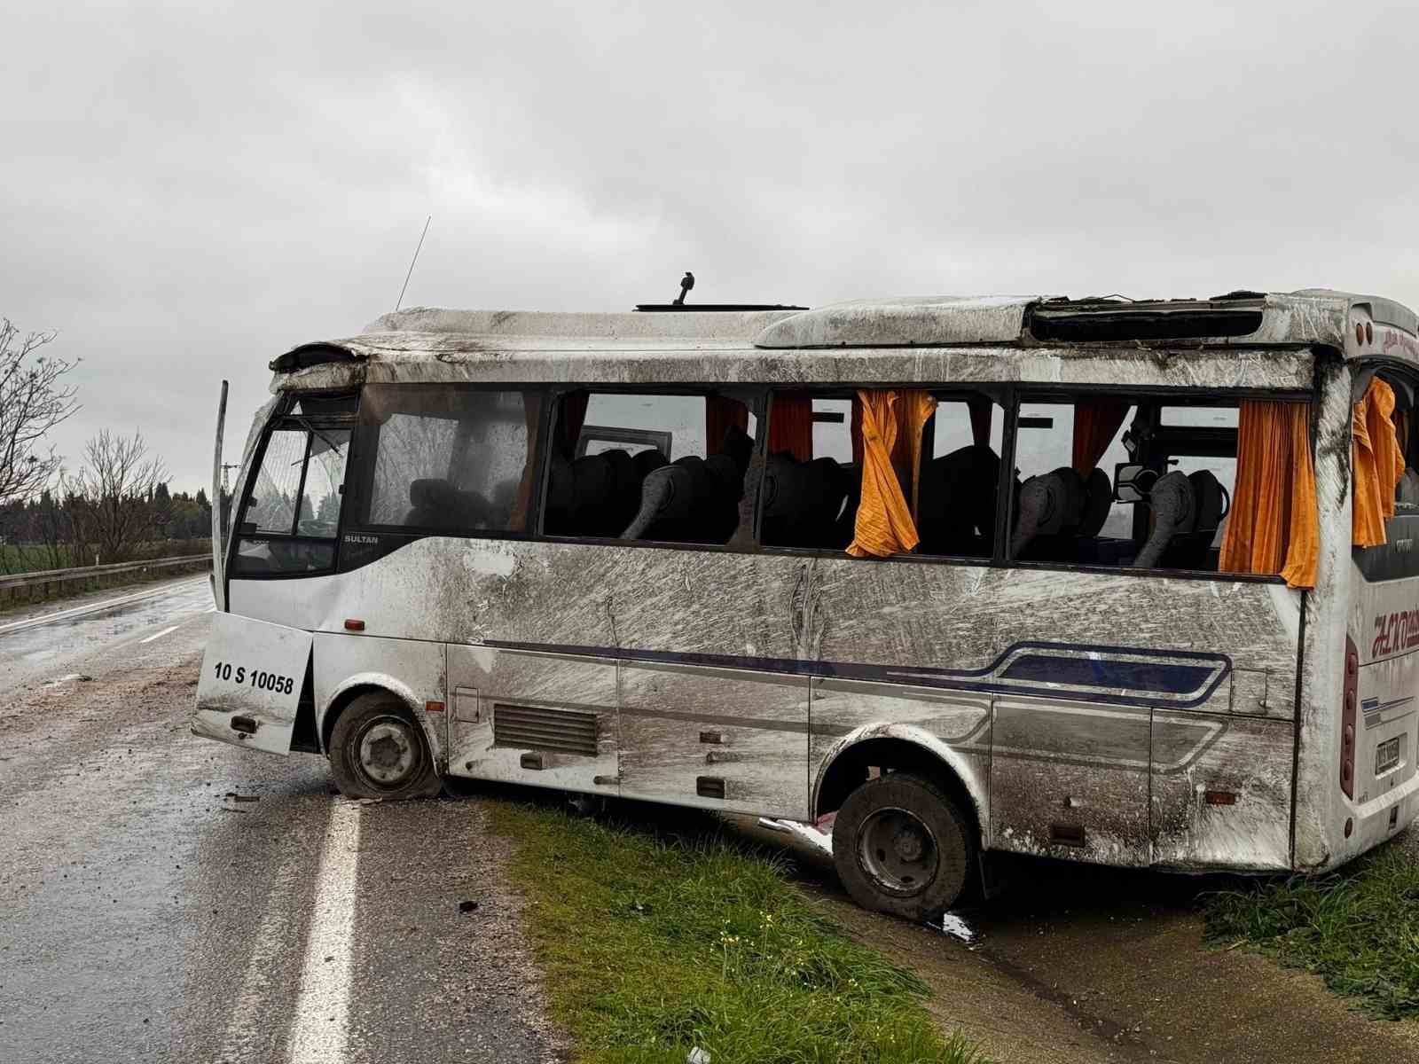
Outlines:
<svg viewBox="0 0 1419 1064"><path fill-rule="evenodd" d="M84 468L70 485L84 522L84 538L102 562L123 562L166 519L158 485L167 480L162 458L148 455L142 433L114 436L106 428L84 444Z"/></svg>

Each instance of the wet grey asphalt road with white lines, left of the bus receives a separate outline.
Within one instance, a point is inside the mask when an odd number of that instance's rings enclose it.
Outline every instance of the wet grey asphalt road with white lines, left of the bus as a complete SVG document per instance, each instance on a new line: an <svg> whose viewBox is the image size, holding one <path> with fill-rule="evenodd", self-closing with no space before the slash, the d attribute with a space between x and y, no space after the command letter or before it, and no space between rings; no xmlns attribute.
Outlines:
<svg viewBox="0 0 1419 1064"><path fill-rule="evenodd" d="M477 802L189 733L210 603L0 616L0 1061L552 1058Z"/></svg>

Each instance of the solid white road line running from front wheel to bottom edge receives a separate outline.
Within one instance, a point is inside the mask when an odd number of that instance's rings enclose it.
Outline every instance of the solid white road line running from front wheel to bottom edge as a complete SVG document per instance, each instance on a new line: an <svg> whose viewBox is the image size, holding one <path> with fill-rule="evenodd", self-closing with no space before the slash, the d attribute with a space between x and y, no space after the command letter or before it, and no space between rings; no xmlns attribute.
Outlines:
<svg viewBox="0 0 1419 1064"><path fill-rule="evenodd" d="M349 1030L355 939L359 804L336 800L311 904L301 993L291 1021L289 1064L342 1064Z"/></svg>

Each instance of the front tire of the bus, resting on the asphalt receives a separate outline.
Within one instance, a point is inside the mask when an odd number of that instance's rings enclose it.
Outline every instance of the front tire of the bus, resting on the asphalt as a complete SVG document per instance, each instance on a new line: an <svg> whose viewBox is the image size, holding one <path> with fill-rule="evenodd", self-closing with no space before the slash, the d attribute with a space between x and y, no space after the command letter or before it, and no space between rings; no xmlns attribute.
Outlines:
<svg viewBox="0 0 1419 1064"><path fill-rule="evenodd" d="M403 701L382 691L345 706L331 732L329 756L331 775L346 797L431 797L441 786L424 729Z"/></svg>

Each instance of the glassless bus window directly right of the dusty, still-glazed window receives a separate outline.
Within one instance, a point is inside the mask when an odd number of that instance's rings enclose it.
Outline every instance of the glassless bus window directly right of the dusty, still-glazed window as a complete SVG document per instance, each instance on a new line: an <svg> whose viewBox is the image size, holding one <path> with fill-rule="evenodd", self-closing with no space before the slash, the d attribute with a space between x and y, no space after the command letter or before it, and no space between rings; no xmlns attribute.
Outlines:
<svg viewBox="0 0 1419 1064"><path fill-rule="evenodd" d="M552 430L543 532L725 543L755 430L728 396L572 392Z"/></svg>

